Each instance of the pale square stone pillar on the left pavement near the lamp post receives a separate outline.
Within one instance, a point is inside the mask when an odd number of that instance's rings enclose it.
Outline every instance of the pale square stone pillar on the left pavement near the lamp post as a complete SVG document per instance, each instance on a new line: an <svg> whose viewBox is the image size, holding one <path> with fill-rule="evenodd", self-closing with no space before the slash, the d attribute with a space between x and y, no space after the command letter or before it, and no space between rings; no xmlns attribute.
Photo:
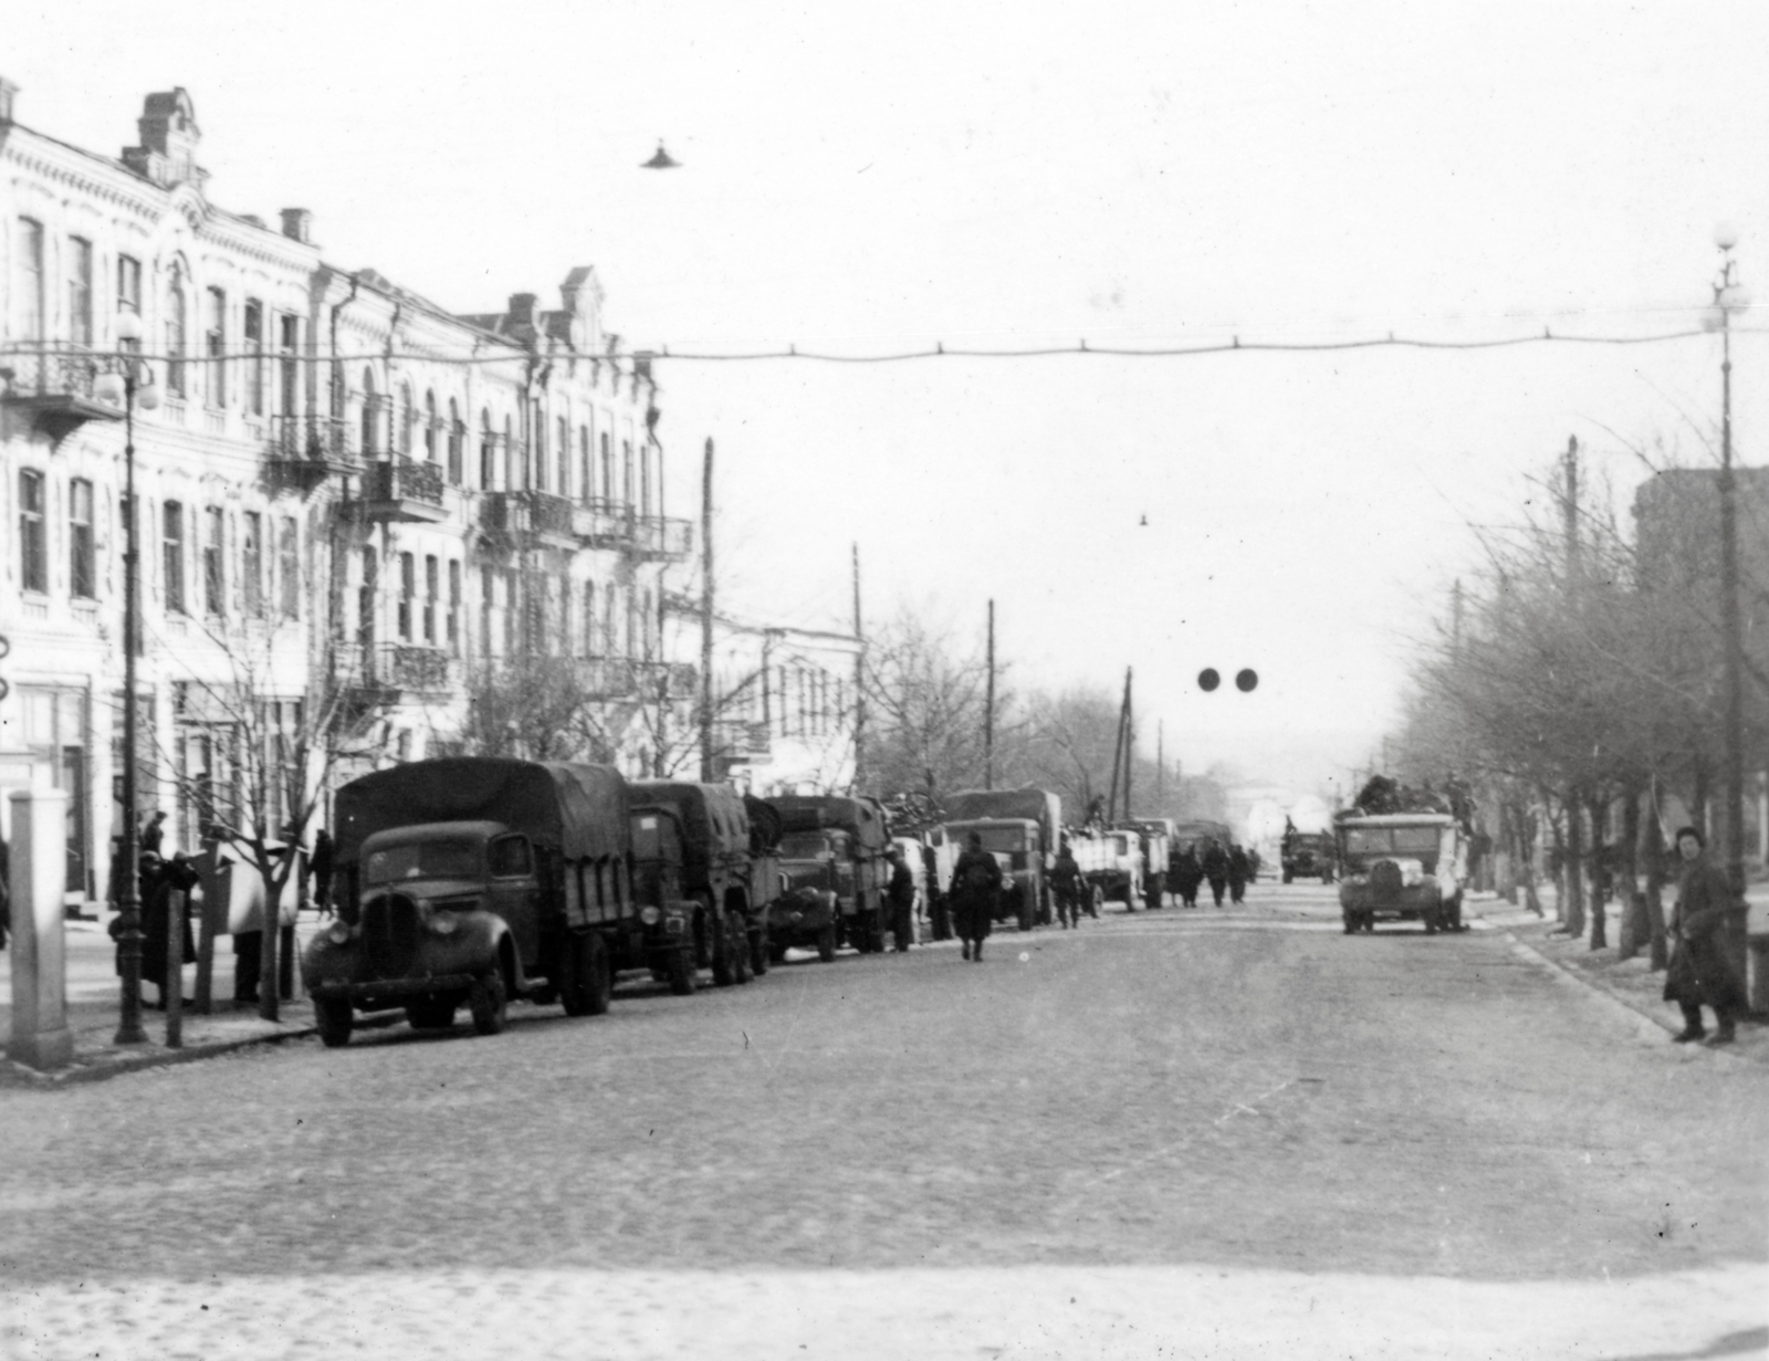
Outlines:
<svg viewBox="0 0 1769 1361"><path fill-rule="evenodd" d="M67 795L14 789L12 800L12 1039L7 1057L35 1069L74 1060L67 1028Z"/></svg>

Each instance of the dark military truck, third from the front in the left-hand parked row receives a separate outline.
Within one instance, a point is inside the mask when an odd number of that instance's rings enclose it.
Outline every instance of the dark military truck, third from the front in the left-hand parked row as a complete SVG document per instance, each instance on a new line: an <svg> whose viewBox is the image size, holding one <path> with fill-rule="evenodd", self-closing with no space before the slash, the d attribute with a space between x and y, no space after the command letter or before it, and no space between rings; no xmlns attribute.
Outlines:
<svg viewBox="0 0 1769 1361"><path fill-rule="evenodd" d="M884 887L890 828L876 798L777 795L780 874L785 892L768 919L768 947L784 959L793 945L835 959L837 945L862 954L884 949Z"/></svg>

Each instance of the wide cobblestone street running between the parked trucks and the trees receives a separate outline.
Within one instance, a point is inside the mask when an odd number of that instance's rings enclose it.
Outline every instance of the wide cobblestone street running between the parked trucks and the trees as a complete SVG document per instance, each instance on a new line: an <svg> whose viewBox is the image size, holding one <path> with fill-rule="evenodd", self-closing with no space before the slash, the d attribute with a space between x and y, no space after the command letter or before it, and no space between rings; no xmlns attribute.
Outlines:
<svg viewBox="0 0 1769 1361"><path fill-rule="evenodd" d="M1762 1354L1764 1065L1330 894L4 1092L0 1352Z"/></svg>

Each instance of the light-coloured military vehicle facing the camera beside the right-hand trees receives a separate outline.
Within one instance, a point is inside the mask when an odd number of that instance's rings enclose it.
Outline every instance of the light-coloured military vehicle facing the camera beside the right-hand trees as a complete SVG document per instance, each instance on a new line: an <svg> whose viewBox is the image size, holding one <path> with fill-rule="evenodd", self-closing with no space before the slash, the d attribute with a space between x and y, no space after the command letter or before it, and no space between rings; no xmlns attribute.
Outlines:
<svg viewBox="0 0 1769 1361"><path fill-rule="evenodd" d="M1346 934L1378 920L1417 920L1426 934L1461 931L1467 846L1447 812L1334 814Z"/></svg>

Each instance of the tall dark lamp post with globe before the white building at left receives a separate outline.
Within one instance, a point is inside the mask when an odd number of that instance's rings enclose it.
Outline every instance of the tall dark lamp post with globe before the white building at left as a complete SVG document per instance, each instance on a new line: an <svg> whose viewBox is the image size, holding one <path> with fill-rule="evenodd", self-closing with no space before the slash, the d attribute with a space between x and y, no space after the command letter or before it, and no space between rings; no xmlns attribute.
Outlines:
<svg viewBox="0 0 1769 1361"><path fill-rule="evenodd" d="M119 952L122 973L122 1018L117 1025L117 1044L143 1044L142 1028L142 890L140 867L142 830L134 816L136 782L136 711L134 711L134 658L142 650L142 612L138 605L142 568L138 559L138 526L134 501L134 409L154 411L159 389L154 388L147 361L134 347L142 342L142 319L133 311L117 315L117 342L122 356L115 370L101 373L94 395L122 407L124 418L124 556L122 556L122 883L117 885ZM145 375L145 379L143 379Z"/></svg>

